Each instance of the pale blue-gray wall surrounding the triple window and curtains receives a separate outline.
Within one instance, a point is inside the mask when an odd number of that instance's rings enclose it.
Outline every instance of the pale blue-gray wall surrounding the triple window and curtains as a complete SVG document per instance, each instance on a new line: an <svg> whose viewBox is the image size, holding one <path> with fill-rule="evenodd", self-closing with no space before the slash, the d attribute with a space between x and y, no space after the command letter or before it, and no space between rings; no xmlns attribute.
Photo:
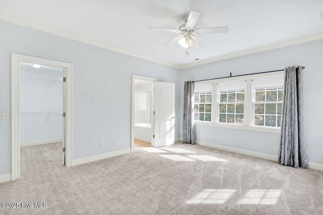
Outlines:
<svg viewBox="0 0 323 215"><path fill-rule="evenodd" d="M323 107L323 40L183 69L181 107L184 81L228 77L230 73L232 76L259 73L292 65L306 67L303 70L303 89L308 161L323 164L323 114L320 114ZM279 137L278 133L196 125L196 138L199 141L274 156L278 156Z"/></svg>

